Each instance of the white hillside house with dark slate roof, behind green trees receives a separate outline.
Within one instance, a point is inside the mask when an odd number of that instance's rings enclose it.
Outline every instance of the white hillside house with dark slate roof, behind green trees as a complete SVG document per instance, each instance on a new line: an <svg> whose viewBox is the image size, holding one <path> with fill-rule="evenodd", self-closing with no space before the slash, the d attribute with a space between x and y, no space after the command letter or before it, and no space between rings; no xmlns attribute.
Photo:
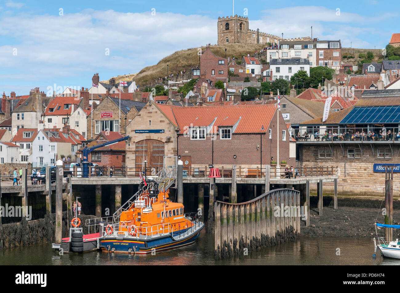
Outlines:
<svg viewBox="0 0 400 293"><path fill-rule="evenodd" d="M290 78L299 70L306 71L310 76L310 62L307 59L273 59L270 61L272 80Z"/></svg>

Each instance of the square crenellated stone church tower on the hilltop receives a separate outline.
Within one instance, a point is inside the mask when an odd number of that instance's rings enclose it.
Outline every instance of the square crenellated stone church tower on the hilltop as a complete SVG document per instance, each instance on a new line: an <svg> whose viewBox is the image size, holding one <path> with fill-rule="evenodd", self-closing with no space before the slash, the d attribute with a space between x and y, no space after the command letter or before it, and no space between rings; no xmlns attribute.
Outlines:
<svg viewBox="0 0 400 293"><path fill-rule="evenodd" d="M239 43L246 44L249 29L248 17L235 16L218 17L218 45Z"/></svg>

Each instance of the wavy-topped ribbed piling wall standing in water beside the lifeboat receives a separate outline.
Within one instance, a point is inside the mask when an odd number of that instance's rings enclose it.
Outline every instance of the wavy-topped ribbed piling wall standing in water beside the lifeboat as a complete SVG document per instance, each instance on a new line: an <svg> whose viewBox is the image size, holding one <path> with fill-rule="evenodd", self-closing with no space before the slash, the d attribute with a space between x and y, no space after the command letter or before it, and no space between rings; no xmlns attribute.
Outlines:
<svg viewBox="0 0 400 293"><path fill-rule="evenodd" d="M300 236L300 191L274 189L244 203L215 201L214 207L215 259Z"/></svg>

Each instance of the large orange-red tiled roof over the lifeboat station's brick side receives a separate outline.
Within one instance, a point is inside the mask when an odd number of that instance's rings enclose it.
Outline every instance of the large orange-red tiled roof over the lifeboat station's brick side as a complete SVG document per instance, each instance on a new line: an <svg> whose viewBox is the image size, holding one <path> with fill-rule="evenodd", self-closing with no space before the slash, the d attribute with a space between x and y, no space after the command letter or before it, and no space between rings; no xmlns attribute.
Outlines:
<svg viewBox="0 0 400 293"><path fill-rule="evenodd" d="M236 123L237 126L233 133L265 133L275 112L275 104L172 108L181 134L186 132L187 127L191 125L200 127L212 125L210 133L215 133L219 127L234 126Z"/></svg>

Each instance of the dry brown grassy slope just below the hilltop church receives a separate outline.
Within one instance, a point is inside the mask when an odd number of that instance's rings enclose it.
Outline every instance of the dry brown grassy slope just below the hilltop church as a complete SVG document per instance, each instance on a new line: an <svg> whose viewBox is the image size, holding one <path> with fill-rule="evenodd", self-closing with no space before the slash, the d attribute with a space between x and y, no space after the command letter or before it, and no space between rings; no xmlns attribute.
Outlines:
<svg viewBox="0 0 400 293"><path fill-rule="evenodd" d="M210 46L210 50L216 56L225 58L226 48L226 58L230 57L232 60L232 57L242 59L242 54L247 55L254 54L256 51L259 52L264 46L265 44L224 44ZM206 47L202 46L201 49L204 52ZM165 77L167 75L167 64L168 74L172 72L175 76L181 70L186 69L187 72L191 68L196 68L196 65L200 68L198 52L198 48L177 51L166 56L157 64L143 68L136 74L133 80L141 87L154 82L156 78Z"/></svg>

